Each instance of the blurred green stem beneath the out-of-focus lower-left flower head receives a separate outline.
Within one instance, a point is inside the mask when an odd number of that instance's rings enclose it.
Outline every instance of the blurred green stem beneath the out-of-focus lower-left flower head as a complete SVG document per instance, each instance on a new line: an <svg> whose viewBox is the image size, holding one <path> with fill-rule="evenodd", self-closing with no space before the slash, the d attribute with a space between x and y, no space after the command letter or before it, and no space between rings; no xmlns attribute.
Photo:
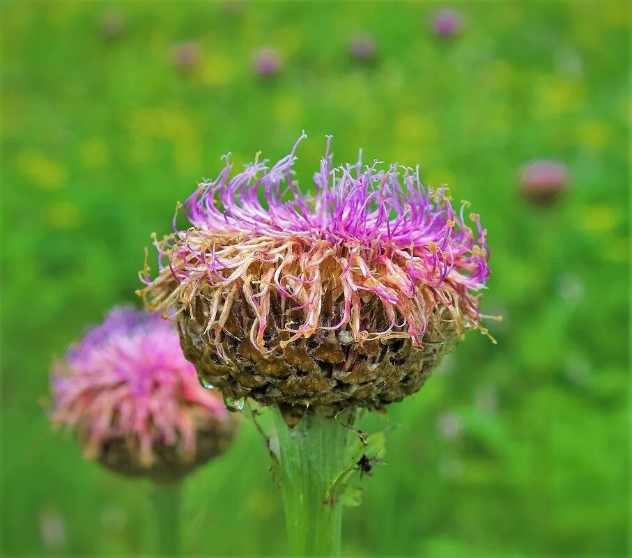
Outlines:
<svg viewBox="0 0 632 558"><path fill-rule="evenodd" d="M156 544L158 556L180 554L180 500L179 482L155 484L153 502L156 513Z"/></svg>

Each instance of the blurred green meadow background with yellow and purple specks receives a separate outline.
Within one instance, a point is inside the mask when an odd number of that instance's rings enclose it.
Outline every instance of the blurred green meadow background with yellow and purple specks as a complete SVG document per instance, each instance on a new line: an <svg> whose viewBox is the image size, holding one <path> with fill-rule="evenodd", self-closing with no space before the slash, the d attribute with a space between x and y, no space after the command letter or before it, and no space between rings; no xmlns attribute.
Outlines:
<svg viewBox="0 0 632 558"><path fill-rule="evenodd" d="M52 433L49 364L139 304L150 234L221 155L274 161L304 129L304 184L333 134L338 163L362 147L470 200L491 248L483 312L504 316L498 346L473 332L369 419L401 428L346 511L344 555L627 554L629 3L0 9L5 555L147 552L151 486ZM524 171L537 160L553 176ZM184 513L190 555L284 552L249 421L187 481Z"/></svg>

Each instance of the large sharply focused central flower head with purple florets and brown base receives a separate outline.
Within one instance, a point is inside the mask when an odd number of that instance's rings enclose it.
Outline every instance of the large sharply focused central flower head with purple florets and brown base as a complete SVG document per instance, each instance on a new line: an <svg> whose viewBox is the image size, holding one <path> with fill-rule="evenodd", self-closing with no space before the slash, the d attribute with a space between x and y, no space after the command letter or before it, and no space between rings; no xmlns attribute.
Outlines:
<svg viewBox="0 0 632 558"><path fill-rule="evenodd" d="M334 168L328 140L308 195L297 147L233 176L226 156L183 206L192 227L155 240L160 272L146 265L139 291L174 313L201 378L278 405L288 424L416 392L465 330L486 332L489 274L478 215L472 230L467 204L454 210L418 168Z"/></svg>

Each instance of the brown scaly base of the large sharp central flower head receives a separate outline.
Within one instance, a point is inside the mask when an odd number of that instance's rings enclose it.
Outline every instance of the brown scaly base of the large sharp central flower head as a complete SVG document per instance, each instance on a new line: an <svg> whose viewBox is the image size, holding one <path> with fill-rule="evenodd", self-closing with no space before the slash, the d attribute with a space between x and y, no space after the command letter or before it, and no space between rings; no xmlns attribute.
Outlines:
<svg viewBox="0 0 632 558"><path fill-rule="evenodd" d="M327 297L325 297L327 298ZM204 333L203 299L196 300L193 317L182 313L180 343L185 357L195 366L203 382L217 387L230 398L250 397L262 405L278 405L289 426L295 426L305 412L334 416L341 410L380 410L417 392L433 368L458 340L454 322L445 309L429 323L422 347L410 337L355 341L348 330L319 328L309 338L301 338L280 348L291 333L284 329L282 297L272 297L266 346L276 347L263 355L250 341L254 312L243 297L236 297L231 316L224 325L221 350ZM323 304L321 325L339 320L339 304ZM295 311L293 313L298 313ZM297 316L298 318L298 316ZM367 302L362 312L369 331L389 325L380 304Z"/></svg>

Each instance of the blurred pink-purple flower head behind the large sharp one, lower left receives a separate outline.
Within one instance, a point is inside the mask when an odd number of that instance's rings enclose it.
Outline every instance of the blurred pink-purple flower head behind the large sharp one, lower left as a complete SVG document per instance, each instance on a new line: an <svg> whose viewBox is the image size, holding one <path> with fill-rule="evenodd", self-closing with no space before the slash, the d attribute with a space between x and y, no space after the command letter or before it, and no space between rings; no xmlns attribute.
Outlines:
<svg viewBox="0 0 632 558"><path fill-rule="evenodd" d="M121 474L176 481L236 433L160 314L113 309L54 364L51 381L53 424L74 428L87 458Z"/></svg>

